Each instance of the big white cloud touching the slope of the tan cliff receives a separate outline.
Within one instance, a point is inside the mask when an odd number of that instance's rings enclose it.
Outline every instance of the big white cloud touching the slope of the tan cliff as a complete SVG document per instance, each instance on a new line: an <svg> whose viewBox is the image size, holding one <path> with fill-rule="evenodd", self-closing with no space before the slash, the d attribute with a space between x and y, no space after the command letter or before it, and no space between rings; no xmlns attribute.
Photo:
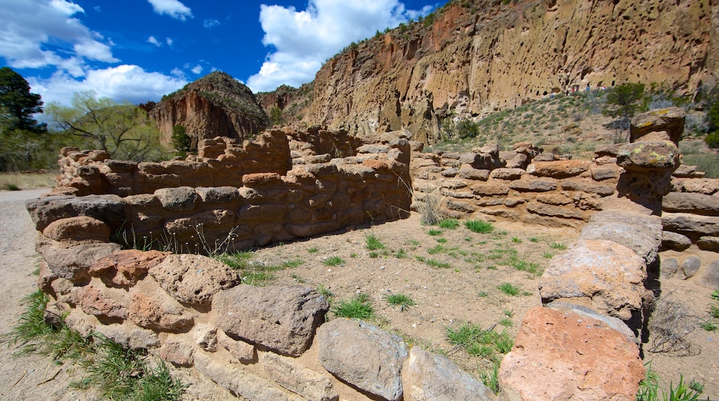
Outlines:
<svg viewBox="0 0 719 401"><path fill-rule="evenodd" d="M313 80L324 60L349 43L431 9L406 10L398 0L309 0L305 11L262 4L262 43L274 51L247 85L255 92L273 91L282 84L300 86Z"/></svg>

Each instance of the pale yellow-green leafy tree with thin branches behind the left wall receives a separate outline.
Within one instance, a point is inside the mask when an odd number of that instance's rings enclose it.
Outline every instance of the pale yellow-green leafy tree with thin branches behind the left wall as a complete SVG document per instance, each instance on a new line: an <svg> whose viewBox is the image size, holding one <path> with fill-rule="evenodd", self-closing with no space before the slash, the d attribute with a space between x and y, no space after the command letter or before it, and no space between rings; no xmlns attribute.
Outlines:
<svg viewBox="0 0 719 401"><path fill-rule="evenodd" d="M103 149L114 159L139 162L168 157L155 124L130 103L84 91L75 93L71 107L50 103L47 114L62 132L81 139L81 146Z"/></svg>

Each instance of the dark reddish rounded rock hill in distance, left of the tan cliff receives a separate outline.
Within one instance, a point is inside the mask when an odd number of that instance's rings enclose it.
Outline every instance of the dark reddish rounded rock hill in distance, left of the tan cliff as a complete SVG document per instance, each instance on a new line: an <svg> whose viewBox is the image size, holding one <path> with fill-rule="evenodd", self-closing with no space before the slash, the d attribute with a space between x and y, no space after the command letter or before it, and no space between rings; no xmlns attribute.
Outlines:
<svg viewBox="0 0 719 401"><path fill-rule="evenodd" d="M182 125L197 149L201 139L230 137L244 140L267 126L265 111L247 86L226 73L215 72L162 98L148 114L170 143L173 126Z"/></svg>

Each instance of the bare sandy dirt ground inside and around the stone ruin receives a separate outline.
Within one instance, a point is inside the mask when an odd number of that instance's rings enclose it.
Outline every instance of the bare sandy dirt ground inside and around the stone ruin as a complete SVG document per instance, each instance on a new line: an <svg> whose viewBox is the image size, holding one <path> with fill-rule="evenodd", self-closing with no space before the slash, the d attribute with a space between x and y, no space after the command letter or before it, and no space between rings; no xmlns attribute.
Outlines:
<svg viewBox="0 0 719 401"><path fill-rule="evenodd" d="M22 297L36 288L32 272L39 259L34 249L35 230L24 211L24 201L46 191L0 191L2 332L8 331L22 313ZM506 330L514 338L526 310L540 304L536 285L549 258L562 252L562 246L571 244L578 234L571 229L516 223L495 223L493 233L476 234L461 225L456 229L422 226L418 216L413 215L403 221L260 249L252 252L251 264L301 261L299 265L291 264L295 267L272 272L274 278L267 284L313 288L323 285L334 294L334 305L357 293L367 294L377 310L375 323L399 333L411 344L445 352L464 369L477 374L491 362L449 344L446 328L464 322L482 328L496 325L495 331ZM384 249L366 249L368 236L379 239ZM327 265L333 257L343 262ZM702 254L702 258L706 262L715 254ZM499 289L507 283L518 287L518 295ZM691 280L676 279L661 282L661 288L664 294L673 291L692 315L708 317L710 290ZM389 294L408 295L416 305L405 310L393 307L385 299ZM665 388L670 380L676 383L683 374L684 380L695 379L705 385L703 397L719 400L718 334L697 327L685 338L699 354L677 356L645 351L645 361L653 361L652 368L666 382ZM645 350L649 344L644 344ZM68 389L68 384L81 376L75 367L56 365L40 356L14 358L13 351L12 347L0 347L0 399L96 399L86 392ZM188 399L221 400L229 396L186 371L180 374L193 383Z"/></svg>

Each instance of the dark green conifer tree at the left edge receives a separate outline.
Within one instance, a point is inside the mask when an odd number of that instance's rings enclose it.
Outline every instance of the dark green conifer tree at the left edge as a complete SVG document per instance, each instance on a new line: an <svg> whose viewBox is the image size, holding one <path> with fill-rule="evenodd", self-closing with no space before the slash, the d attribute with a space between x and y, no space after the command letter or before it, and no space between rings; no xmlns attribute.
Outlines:
<svg viewBox="0 0 719 401"><path fill-rule="evenodd" d="M12 117L9 130L42 133L46 124L38 124L33 114L42 113L42 100L37 93L30 93L30 86L22 75L8 67L0 68L0 105Z"/></svg>

